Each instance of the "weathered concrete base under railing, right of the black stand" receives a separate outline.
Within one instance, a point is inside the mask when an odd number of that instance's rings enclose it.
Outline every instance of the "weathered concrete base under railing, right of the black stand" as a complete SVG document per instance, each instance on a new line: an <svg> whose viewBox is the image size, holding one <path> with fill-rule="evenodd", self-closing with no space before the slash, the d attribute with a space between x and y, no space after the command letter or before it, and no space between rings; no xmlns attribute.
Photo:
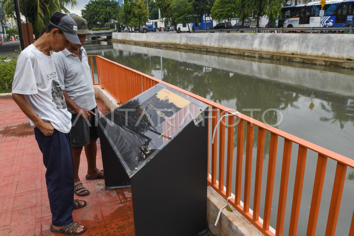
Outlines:
<svg viewBox="0 0 354 236"><path fill-rule="evenodd" d="M217 236L263 236L255 226L244 218L235 208L229 212L222 210L218 224L214 226L220 209L225 206L226 200L214 189L208 186L207 220L208 229Z"/></svg>

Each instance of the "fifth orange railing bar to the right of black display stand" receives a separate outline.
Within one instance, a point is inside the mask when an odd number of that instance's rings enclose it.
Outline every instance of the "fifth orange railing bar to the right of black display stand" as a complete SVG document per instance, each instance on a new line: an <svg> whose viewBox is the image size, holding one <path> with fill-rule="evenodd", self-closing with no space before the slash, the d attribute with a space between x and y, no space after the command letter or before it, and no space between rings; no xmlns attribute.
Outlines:
<svg viewBox="0 0 354 236"><path fill-rule="evenodd" d="M252 173L252 148L253 148L253 124L247 122L246 135L246 163L245 163L245 192L244 212L250 212L251 173Z"/></svg>

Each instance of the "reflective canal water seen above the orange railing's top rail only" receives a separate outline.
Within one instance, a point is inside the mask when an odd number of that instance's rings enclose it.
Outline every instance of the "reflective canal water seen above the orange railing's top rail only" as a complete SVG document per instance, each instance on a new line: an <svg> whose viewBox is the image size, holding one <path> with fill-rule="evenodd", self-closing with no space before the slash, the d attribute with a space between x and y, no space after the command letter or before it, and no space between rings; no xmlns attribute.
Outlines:
<svg viewBox="0 0 354 236"><path fill-rule="evenodd" d="M277 128L353 157L352 70L104 44L85 46L89 54L101 55L246 115L251 113L244 109L261 109L253 112L253 118L259 121L267 109L279 109L284 120ZM265 115L265 122L277 121L277 113Z"/></svg>

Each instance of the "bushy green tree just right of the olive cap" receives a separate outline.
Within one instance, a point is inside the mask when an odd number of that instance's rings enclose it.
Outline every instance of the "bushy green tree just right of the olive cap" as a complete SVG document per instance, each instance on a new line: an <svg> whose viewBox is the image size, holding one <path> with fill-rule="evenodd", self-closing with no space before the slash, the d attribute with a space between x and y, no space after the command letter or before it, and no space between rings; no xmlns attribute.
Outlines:
<svg viewBox="0 0 354 236"><path fill-rule="evenodd" d="M91 0L81 10L82 17L86 19L90 28L105 27L105 23L110 23L116 19L115 12L119 8L116 2L110 0Z"/></svg>

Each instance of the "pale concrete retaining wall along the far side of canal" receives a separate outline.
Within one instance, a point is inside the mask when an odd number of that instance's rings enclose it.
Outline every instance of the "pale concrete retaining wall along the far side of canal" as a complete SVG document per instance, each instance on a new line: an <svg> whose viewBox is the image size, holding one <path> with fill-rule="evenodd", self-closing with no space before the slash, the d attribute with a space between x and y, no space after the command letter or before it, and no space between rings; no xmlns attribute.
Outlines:
<svg viewBox="0 0 354 236"><path fill-rule="evenodd" d="M354 68L350 34L113 33L112 41ZM341 43L338 44L338 41ZM347 46L343 46L347 45Z"/></svg>

